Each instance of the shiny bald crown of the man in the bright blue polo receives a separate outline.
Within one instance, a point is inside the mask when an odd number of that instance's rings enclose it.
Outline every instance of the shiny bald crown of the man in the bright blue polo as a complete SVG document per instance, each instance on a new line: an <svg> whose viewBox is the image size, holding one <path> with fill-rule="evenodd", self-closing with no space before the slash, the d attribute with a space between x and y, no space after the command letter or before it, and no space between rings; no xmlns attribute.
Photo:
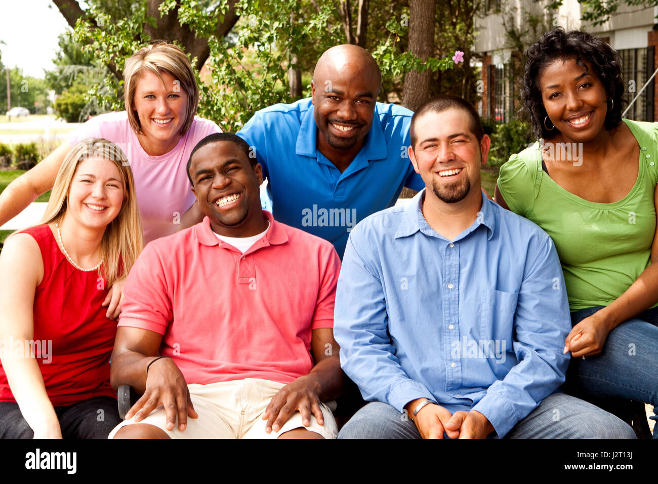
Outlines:
<svg viewBox="0 0 658 484"><path fill-rule="evenodd" d="M326 80L331 80L337 75L359 77L365 82L376 82L376 94L381 90L382 72L377 61L366 49L358 45L345 43L324 51L313 70L313 82L316 86L324 86Z"/></svg>

